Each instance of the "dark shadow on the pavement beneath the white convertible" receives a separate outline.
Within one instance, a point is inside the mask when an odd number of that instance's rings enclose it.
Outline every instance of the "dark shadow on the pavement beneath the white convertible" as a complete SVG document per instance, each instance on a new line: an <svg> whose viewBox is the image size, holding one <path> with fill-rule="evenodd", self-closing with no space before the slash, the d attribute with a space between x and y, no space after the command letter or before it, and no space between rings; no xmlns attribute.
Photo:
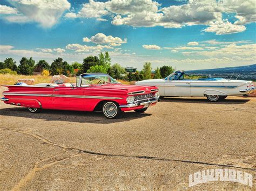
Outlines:
<svg viewBox="0 0 256 191"><path fill-rule="evenodd" d="M191 97L164 97L161 102L180 102L180 103L206 103L206 104L244 104L250 100L242 99L225 99L217 102L208 101L207 98L191 98Z"/></svg>

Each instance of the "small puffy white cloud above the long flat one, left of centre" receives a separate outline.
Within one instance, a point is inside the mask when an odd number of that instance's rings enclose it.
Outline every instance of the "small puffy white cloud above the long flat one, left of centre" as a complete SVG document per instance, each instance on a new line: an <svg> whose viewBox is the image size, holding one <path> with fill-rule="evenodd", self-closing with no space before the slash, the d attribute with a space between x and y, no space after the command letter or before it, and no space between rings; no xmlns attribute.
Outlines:
<svg viewBox="0 0 256 191"><path fill-rule="evenodd" d="M92 36L91 38L83 38L84 42L92 42L96 44L110 44L114 43L116 46L119 44L127 43L127 39L122 40L119 37L112 37L112 36L106 36L103 33L97 33L95 36Z"/></svg>

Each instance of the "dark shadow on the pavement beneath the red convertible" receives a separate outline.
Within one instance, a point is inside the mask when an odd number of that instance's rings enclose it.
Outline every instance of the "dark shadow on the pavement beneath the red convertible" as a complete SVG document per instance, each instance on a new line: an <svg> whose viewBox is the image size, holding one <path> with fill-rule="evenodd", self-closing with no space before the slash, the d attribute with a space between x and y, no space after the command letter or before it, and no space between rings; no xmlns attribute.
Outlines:
<svg viewBox="0 0 256 191"><path fill-rule="evenodd" d="M151 114L147 114L147 113L140 114L135 111L122 112L122 114L117 119L107 119L106 117L104 117L102 112L43 109L38 114L32 114L26 108L15 107L15 108L0 109L0 116L43 119L46 121L66 121L66 122L78 122L78 123L109 124L109 123L132 121L133 119L151 116Z"/></svg>

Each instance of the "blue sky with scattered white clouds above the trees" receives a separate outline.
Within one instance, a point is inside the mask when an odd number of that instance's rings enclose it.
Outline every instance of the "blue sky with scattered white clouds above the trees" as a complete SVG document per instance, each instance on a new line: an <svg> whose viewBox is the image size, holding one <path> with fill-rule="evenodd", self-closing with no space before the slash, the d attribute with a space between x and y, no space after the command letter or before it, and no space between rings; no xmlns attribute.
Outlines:
<svg viewBox="0 0 256 191"><path fill-rule="evenodd" d="M256 60L255 0L0 0L0 61L208 69Z"/></svg>

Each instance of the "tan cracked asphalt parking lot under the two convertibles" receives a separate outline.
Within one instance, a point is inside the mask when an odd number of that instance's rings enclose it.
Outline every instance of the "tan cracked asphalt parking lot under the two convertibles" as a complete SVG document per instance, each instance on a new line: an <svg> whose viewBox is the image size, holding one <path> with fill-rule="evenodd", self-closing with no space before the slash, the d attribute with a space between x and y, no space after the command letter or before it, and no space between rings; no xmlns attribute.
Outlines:
<svg viewBox="0 0 256 191"><path fill-rule="evenodd" d="M4 88L1 88L1 93ZM2 96L0 94L0 96ZM164 98L145 114L43 110L0 103L0 189L189 189L216 168L256 182L256 98ZM253 189L215 181L191 189Z"/></svg>

